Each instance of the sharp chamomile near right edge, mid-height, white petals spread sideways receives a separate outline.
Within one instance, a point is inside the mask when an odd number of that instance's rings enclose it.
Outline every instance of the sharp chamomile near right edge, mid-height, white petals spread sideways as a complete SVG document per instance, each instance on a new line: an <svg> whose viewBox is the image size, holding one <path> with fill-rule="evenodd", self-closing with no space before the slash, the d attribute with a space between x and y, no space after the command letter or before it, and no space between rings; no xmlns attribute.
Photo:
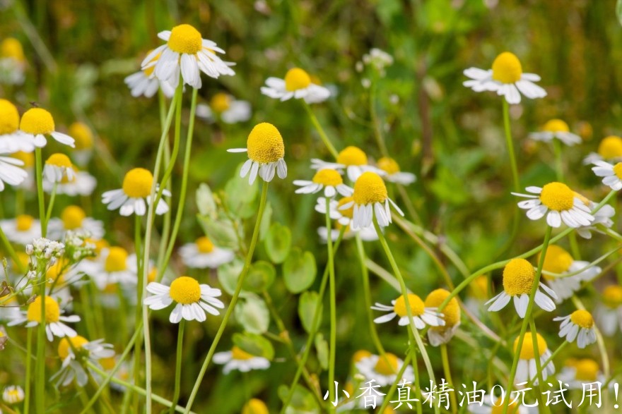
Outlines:
<svg viewBox="0 0 622 414"><path fill-rule="evenodd" d="M594 221L587 207L577 193L563 183L548 183L544 187L527 187L532 194L512 193L519 197L529 198L518 203L518 207L527 210L527 217L539 220L546 216L546 224L559 227L563 223L568 227L589 226Z"/></svg>

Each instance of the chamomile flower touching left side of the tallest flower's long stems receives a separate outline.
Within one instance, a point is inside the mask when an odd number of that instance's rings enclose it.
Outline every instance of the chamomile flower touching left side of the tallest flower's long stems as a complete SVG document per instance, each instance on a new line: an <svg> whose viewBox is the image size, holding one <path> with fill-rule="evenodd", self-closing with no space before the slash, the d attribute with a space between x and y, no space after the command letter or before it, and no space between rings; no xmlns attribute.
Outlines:
<svg viewBox="0 0 622 414"><path fill-rule="evenodd" d="M136 214L144 216L147 212L147 204L150 204L157 197L158 185L155 186L156 194L151 195L151 185L153 184L153 175L151 171L143 168L135 168L127 171L123 178L122 188L118 190L106 191L102 194L102 202L108 205L109 210L119 209L122 216L131 216ZM169 190L163 190L163 195L170 197ZM161 197L158 205L155 206L155 214L164 214L168 212L168 205Z"/></svg>

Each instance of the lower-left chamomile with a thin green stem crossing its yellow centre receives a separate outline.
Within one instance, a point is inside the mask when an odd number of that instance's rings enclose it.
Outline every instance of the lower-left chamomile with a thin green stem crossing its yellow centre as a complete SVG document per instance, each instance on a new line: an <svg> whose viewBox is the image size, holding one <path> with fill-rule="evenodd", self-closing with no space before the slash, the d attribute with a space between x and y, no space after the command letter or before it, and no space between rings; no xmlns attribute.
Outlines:
<svg viewBox="0 0 622 414"><path fill-rule="evenodd" d="M45 324L47 340L50 342L54 340L54 336L59 338L76 336L76 331L63 322L80 322L80 317L78 315L62 316L61 313L58 302L51 296L45 296L45 321L43 323ZM41 323L41 296L37 296L28 305L28 310L20 312L20 315L8 322L7 325L13 327L23 323L27 328L36 327Z"/></svg>

